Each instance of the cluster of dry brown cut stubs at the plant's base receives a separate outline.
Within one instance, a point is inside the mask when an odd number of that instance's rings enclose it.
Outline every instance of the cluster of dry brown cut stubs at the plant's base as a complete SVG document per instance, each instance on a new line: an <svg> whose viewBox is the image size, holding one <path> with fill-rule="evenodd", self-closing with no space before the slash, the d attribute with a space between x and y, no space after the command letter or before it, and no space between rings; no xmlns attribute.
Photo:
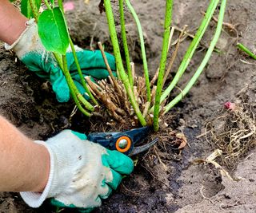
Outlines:
<svg viewBox="0 0 256 213"><path fill-rule="evenodd" d="M95 108L94 114L102 114L102 116L110 117L110 119L118 121L117 123L128 124L127 128L129 128L129 126L139 126L138 117L134 113L134 108L130 105L126 89L121 81L117 78L114 78L113 80L113 77L109 77L108 80L104 79L95 83L90 77L85 78L91 93L93 93L94 97L102 103L102 105L98 105ZM153 100L155 89L156 87L154 86L154 93L152 93ZM133 92L148 125L152 124L152 117L149 115L149 108L152 106L152 102L148 103L146 101L146 85L143 77L134 77ZM164 104L165 102L163 105ZM162 112L163 108L160 115L162 115Z"/></svg>

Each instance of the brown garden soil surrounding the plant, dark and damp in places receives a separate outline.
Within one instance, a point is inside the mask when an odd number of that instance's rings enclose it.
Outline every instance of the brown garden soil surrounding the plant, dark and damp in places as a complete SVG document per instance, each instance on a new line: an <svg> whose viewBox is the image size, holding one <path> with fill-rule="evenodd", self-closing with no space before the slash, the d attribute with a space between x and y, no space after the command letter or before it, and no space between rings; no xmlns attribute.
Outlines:
<svg viewBox="0 0 256 213"><path fill-rule="evenodd" d="M146 53L150 75L153 76L159 63L162 46L162 24L164 22L165 1L132 1L145 32ZM196 2L196 3L195 3ZM181 0L174 3L173 25L194 34L209 1ZM85 5L83 0L75 1L75 10L67 12L68 24L74 41L84 48L97 48L102 41L111 51L110 37L105 14L98 11L98 1ZM183 132L188 141L186 148L179 152L166 144L152 148L150 152L138 156L138 165L131 176L123 179L118 191L102 203L95 212L255 212L255 162L254 149L250 156L240 159L234 176L239 182L222 177L209 164L194 165L194 160L206 159L214 151L214 144L206 141L203 133L206 123L221 111L226 101L255 102L256 62L235 47L237 41L256 50L256 18L252 1L228 1L225 22L236 26L237 34L223 27L218 42L220 53L214 53L197 84L181 103L175 106L166 120L175 132ZM206 52L207 44L214 33L214 22L203 37L202 44L195 53L179 87L198 67ZM142 73L142 58L136 26L132 18L127 18L127 32L130 53L136 63L136 72ZM175 34L177 37L178 34ZM190 38L182 42L177 70ZM49 83L30 73L15 56L0 49L0 112L13 124L33 139L46 140L63 128L80 132L95 131L92 120L78 113L71 123L67 121L74 104L60 105L54 98ZM171 73L171 76L174 75ZM242 91L242 92L241 92ZM177 93L174 91L174 93ZM240 92L240 93L239 93ZM200 136L202 135L202 136ZM17 193L0 194L1 212L54 212L46 202L39 209L27 207ZM73 212L73 211L65 211Z"/></svg>

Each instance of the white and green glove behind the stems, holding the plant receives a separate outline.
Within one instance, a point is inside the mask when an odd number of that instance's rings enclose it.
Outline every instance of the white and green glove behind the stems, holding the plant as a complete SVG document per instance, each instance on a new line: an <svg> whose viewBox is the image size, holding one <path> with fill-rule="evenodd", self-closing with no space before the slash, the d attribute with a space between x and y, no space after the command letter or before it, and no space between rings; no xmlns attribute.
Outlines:
<svg viewBox="0 0 256 213"><path fill-rule="evenodd" d="M5 45L6 49L13 49L18 58L39 77L43 77L50 81L54 93L56 93L59 102L67 102L70 100L70 89L67 85L66 78L62 70L59 68L53 53L46 51L38 36L38 26L31 19L26 23L26 30L18 37L18 40L12 45ZM108 77L106 65L99 50L90 51L83 50L75 46L78 61L82 69L83 75L90 75L98 80ZM110 68L115 70L114 56L106 53ZM80 77L77 72L77 67L74 63L73 53L69 48L66 53L68 69L78 87L80 93L85 94ZM85 94L86 95L86 94ZM87 97L87 96L86 96Z"/></svg>

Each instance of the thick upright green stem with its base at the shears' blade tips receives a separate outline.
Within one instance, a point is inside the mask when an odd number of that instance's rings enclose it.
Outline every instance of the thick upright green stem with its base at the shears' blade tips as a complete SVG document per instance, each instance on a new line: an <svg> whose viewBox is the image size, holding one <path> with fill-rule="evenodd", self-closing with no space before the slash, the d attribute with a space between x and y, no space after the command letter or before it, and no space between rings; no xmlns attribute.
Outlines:
<svg viewBox="0 0 256 213"><path fill-rule="evenodd" d="M170 24L172 18L172 8L173 8L173 1L166 0L166 15L165 15L165 26L164 26L164 34L163 34L163 41L162 41L162 55L161 61L159 65L159 73L158 73L158 84L157 84L157 91L155 94L155 101L154 101L154 131L157 132L159 128L158 119L159 119L159 111L160 111L160 98L162 93L162 81L166 69L166 57L168 53L168 45L169 45L169 37L170 37Z"/></svg>

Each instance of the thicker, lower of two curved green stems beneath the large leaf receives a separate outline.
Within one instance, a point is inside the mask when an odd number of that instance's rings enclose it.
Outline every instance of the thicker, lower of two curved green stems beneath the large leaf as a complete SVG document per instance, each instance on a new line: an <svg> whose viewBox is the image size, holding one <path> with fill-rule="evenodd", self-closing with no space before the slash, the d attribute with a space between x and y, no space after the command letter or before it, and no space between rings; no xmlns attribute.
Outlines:
<svg viewBox="0 0 256 213"><path fill-rule="evenodd" d="M72 97L74 98L74 101L75 99L78 99L79 101L82 102L82 104L86 107L86 109L90 111L94 111L94 106L90 105L90 103L86 101L84 97L82 97L82 94L78 91L77 87L74 85L74 81L70 76L69 70L67 69L66 55L62 55L62 64L63 64L62 71L64 76L66 77L67 84L69 85L70 93L75 95L75 97L72 95ZM77 101L75 101L75 103L77 104Z"/></svg>

